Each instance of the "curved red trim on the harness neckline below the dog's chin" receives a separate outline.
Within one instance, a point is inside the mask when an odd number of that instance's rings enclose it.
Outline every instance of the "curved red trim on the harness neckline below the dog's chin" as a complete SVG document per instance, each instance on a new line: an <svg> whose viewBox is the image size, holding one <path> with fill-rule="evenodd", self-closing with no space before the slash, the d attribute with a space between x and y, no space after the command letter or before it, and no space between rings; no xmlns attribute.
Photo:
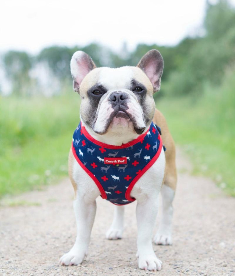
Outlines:
<svg viewBox="0 0 235 276"><path fill-rule="evenodd" d="M147 131L143 134L141 134L140 136L138 136L136 139L132 140L131 142L129 143L126 143L126 144L122 144L121 146L114 146L114 145L109 145L109 144L105 144L105 143L102 143L98 140L96 140L95 138L93 138L88 132L87 130L85 129L85 127L82 125L82 122L81 122L81 128L82 128L82 132L83 134L85 135L85 137L90 140L91 142L93 142L94 144L100 146L100 147L105 147L107 149L125 149L125 148L128 148L132 145L135 145L137 144L138 142L140 142L146 135L147 135L147 132L149 131L150 127L147 129Z"/></svg>

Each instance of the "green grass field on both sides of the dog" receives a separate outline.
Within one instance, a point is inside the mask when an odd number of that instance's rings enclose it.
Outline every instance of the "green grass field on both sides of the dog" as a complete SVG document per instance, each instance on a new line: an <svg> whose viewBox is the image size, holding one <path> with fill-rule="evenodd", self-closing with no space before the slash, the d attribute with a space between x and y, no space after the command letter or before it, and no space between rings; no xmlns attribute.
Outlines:
<svg viewBox="0 0 235 276"><path fill-rule="evenodd" d="M235 196L235 71L204 96L162 98L157 107L177 144L191 157L194 172L212 177ZM0 197L68 175L68 152L79 122L80 98L69 91L53 98L0 98Z"/></svg>

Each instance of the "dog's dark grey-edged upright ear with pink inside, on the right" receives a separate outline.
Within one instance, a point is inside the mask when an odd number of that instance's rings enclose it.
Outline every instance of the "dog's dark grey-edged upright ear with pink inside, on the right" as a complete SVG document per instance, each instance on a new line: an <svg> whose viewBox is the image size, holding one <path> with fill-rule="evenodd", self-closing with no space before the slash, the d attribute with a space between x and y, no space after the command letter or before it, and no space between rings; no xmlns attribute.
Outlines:
<svg viewBox="0 0 235 276"><path fill-rule="evenodd" d="M137 64L137 67L140 67L150 79L153 91L159 91L164 67L163 58L160 52L157 50L148 51Z"/></svg>

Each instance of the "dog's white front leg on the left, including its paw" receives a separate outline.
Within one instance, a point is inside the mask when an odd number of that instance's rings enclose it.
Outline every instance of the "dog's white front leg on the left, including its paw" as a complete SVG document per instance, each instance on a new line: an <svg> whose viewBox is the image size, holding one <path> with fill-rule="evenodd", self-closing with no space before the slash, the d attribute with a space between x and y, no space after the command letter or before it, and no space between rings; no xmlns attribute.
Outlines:
<svg viewBox="0 0 235 276"><path fill-rule="evenodd" d="M77 192L76 199L73 202L77 223L77 237L70 251L61 257L61 265L78 265L87 255L90 233L96 212L95 197L88 197L86 194Z"/></svg>

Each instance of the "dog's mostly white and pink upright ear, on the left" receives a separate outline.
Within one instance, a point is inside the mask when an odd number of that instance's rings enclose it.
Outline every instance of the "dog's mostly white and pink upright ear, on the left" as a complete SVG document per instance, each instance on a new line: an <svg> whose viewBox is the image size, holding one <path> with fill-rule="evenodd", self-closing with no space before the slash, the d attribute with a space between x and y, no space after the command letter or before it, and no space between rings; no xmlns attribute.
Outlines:
<svg viewBox="0 0 235 276"><path fill-rule="evenodd" d="M73 90L79 93L79 87L84 77L96 68L93 60L83 51L76 51L70 61L70 70L73 77Z"/></svg>

